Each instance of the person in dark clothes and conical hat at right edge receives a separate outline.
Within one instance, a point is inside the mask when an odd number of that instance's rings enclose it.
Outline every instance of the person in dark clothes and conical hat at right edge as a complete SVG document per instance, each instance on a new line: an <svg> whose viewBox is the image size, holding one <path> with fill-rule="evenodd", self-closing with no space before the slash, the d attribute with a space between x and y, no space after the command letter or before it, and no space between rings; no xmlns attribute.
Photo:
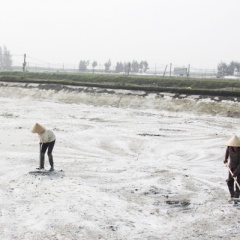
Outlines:
<svg viewBox="0 0 240 240"><path fill-rule="evenodd" d="M228 163L229 158L229 172L228 179L226 180L231 198L239 198L240 190L236 184L234 186L234 178L237 179L238 185L240 184L240 140L236 135L233 135L226 143L227 149L225 153L224 163Z"/></svg>

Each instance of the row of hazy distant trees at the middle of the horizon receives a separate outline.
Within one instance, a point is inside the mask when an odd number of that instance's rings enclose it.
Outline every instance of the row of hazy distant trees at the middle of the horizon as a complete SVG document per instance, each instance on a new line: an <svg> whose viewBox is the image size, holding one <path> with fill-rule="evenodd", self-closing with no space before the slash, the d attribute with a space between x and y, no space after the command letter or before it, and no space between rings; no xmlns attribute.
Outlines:
<svg viewBox="0 0 240 240"><path fill-rule="evenodd" d="M87 71L90 62L81 60L79 62L78 69L81 72ZM95 71L95 68L98 66L96 61L93 61L91 64L91 70ZM116 66L111 70L112 62L109 59L107 62L104 63L104 71L105 72L115 72L115 73L125 73L129 74L130 72L133 73L145 73L149 69L149 64L147 61L136 61L133 60L132 62L117 62Z"/></svg>

